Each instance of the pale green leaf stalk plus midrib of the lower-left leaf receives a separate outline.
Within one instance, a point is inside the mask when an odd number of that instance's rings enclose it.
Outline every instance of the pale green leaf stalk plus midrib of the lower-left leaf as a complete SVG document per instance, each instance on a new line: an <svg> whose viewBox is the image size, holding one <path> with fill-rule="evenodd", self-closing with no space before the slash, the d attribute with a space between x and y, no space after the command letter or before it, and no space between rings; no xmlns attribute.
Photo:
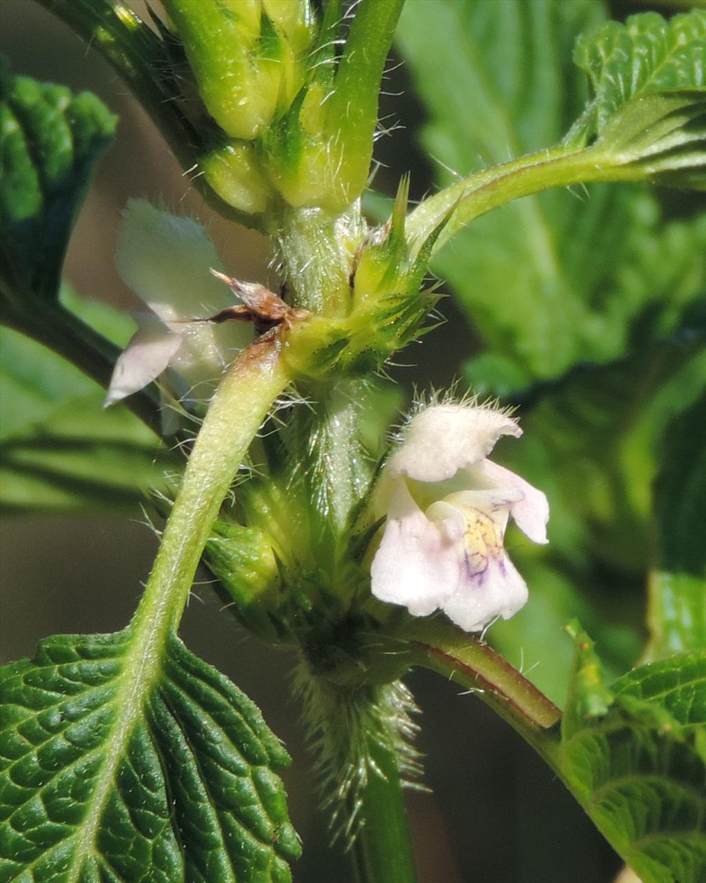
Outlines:
<svg viewBox="0 0 706 883"><path fill-rule="evenodd" d="M128 629L130 643L116 685L115 713L107 737L111 751L101 766L82 836L71 857L67 878L71 883L78 883L86 857L94 849L120 759L161 675L164 654L176 634L214 518L252 437L288 383L289 374L283 370L273 343L254 343L230 366L214 394Z"/></svg>

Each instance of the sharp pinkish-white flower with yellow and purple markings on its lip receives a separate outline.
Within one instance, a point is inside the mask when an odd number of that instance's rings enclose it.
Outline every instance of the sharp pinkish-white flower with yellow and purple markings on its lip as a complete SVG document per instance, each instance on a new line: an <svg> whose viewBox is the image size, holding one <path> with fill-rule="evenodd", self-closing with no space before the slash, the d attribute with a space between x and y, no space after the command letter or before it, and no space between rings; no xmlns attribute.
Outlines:
<svg viewBox="0 0 706 883"><path fill-rule="evenodd" d="M387 524L372 561L372 593L415 616L442 608L465 631L508 619L527 585L507 557L510 516L545 543L545 494L486 459L501 435L522 430L488 406L432 405L409 422L380 478Z"/></svg>

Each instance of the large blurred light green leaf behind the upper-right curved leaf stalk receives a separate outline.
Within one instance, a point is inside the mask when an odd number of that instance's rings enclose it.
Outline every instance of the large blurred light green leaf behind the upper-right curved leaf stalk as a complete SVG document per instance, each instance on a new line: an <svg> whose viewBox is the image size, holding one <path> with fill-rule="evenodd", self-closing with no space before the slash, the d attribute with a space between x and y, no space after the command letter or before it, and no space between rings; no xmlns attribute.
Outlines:
<svg viewBox="0 0 706 883"><path fill-rule="evenodd" d="M592 0L510 0L502 10L495 0L407 4L397 45L427 110L421 137L438 162L437 185L453 181L447 170L466 175L560 139L585 96L570 63L575 34L600 18ZM565 192L530 197L477 219L432 261L484 340L510 354L525 382L570 364L576 329L585 327L557 256L560 231L582 208Z"/></svg>

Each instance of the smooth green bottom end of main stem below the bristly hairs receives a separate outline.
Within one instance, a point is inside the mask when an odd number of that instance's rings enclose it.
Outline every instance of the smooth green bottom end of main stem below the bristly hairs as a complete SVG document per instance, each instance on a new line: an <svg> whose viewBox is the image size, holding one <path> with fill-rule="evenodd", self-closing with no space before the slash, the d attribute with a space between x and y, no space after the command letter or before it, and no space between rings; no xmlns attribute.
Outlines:
<svg viewBox="0 0 706 883"><path fill-rule="evenodd" d="M363 789L362 826L353 844L359 883L415 883L417 871L409 837L402 782L394 751L374 743L370 774Z"/></svg>

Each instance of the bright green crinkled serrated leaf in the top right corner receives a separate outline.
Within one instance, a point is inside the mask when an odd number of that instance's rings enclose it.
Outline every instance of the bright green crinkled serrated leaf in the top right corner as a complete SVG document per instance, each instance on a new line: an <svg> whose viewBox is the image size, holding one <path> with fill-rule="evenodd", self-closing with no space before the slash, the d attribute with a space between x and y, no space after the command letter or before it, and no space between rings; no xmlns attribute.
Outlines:
<svg viewBox="0 0 706 883"><path fill-rule="evenodd" d="M706 187L706 11L608 22L576 43L593 101L567 146L594 151L663 183Z"/></svg>

